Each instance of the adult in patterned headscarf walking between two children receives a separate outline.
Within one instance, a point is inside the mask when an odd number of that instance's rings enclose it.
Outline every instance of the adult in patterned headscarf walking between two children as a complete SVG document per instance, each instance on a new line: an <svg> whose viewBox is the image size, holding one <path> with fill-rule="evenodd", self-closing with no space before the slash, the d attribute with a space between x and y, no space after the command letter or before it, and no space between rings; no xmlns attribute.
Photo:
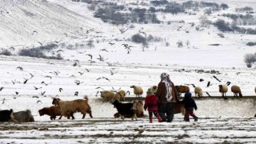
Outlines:
<svg viewBox="0 0 256 144"><path fill-rule="evenodd" d="M174 82L170 81L169 74L162 73L158 83L156 96L158 97L158 112L162 122L172 122L174 119L174 106L178 100L178 94Z"/></svg>

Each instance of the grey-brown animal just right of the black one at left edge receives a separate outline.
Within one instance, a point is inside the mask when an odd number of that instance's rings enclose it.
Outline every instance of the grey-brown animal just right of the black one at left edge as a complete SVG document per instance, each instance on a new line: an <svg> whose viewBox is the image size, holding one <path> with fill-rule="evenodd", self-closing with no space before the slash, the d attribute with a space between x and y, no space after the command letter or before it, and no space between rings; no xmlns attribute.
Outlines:
<svg viewBox="0 0 256 144"><path fill-rule="evenodd" d="M14 119L17 122L34 122L34 117L30 110L15 112Z"/></svg>

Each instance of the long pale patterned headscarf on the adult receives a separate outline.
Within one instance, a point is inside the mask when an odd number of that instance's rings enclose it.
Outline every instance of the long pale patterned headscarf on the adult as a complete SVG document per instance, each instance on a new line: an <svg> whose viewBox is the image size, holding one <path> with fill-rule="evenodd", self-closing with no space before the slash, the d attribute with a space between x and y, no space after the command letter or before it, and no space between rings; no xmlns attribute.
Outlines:
<svg viewBox="0 0 256 144"><path fill-rule="evenodd" d="M160 75L160 78L161 78L161 82L164 82L166 85L166 100L167 100L167 102L169 102L170 99L173 98L173 96L171 95L172 82L170 81L170 76L169 76L169 74L162 73Z"/></svg>

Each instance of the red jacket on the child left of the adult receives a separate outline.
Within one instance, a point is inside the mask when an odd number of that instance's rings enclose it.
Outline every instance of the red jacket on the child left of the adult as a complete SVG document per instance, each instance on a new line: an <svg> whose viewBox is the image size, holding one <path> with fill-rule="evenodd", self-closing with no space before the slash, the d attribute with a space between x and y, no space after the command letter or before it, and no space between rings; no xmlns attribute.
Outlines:
<svg viewBox="0 0 256 144"><path fill-rule="evenodd" d="M144 103L144 110L158 111L158 97L154 94L147 95Z"/></svg>

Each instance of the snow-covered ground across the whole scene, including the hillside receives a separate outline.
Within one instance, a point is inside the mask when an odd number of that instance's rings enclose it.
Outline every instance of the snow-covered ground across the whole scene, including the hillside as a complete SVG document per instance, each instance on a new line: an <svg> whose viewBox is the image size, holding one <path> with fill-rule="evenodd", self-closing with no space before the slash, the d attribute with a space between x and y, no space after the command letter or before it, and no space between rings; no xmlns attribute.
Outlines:
<svg viewBox="0 0 256 144"><path fill-rule="evenodd" d="M177 30L179 23L134 24L133 30L121 34L119 29L126 26L113 26L93 18L92 11L87 10L83 2L0 1L0 48L12 53L12 56L0 55L0 109L29 109L36 121L0 123L0 143L256 142L256 70L254 66L246 68L243 62L244 54L255 53L255 46L246 46L246 42L255 41L254 35L225 33L225 38L219 38L219 31L213 26L202 31L191 28L188 22L197 25L200 16L185 14L166 14L166 21L186 22L181 30ZM235 0L214 2L226 2L230 10L238 3ZM256 2L249 0L240 3L241 6L256 6ZM214 21L216 15L209 18ZM87 34L86 30L91 29L94 32ZM165 42L151 42L142 51L141 44L127 41L139 30L161 37ZM94 40L94 47L86 46L90 40ZM178 48L179 40L189 40L190 46ZM166 42L170 46L165 46ZM56 43L58 47L46 53L62 54L64 59L18 56L19 50L41 46L40 43ZM133 46L130 54L124 43ZM210 46L214 43L221 45ZM196 99L198 122L192 118L190 122L183 122L182 114L175 114L171 123L158 123L154 119L150 124L147 117L121 121L114 118L117 110L110 102L100 98L101 90L119 89L129 90L127 96L135 97L130 86L142 86L146 91L158 84L162 72L170 74L175 85L190 86L193 96L191 84L202 87L204 98ZM200 82L200 78L204 81ZM218 85L226 82L240 86L242 94L250 98L222 99ZM233 96L230 86L227 95ZM74 96L76 92L78 96ZM206 92L220 98L210 98ZM73 100L84 95L89 98L94 118L86 115L81 119L82 114L77 113L75 120L50 121L50 117L38 114L38 110L52 105L53 97Z"/></svg>

